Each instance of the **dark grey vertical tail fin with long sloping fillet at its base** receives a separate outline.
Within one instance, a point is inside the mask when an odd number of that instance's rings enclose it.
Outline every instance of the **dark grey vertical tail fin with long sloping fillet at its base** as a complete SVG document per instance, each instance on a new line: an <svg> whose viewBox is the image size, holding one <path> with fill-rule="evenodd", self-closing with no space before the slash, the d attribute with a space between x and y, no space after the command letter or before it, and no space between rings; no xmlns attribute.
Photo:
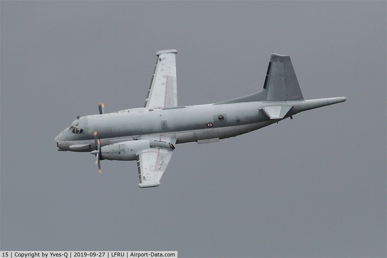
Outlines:
<svg viewBox="0 0 387 258"><path fill-rule="evenodd" d="M272 53L262 91L216 104L249 101L286 101L303 98L290 57L288 55Z"/></svg>

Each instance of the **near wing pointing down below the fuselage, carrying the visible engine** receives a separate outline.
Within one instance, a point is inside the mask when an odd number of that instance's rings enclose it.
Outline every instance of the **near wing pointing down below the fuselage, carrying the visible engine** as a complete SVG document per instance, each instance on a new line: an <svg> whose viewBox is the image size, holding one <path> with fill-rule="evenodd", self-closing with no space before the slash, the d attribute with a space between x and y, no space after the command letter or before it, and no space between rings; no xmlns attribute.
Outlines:
<svg viewBox="0 0 387 258"><path fill-rule="evenodd" d="M176 143L175 138L160 135L140 136L139 139L161 141L170 144ZM163 175L171 159L172 153L173 150L157 148L156 146L139 151L139 153L137 153L137 168L139 170L140 179L139 187L145 188L160 185L161 176Z"/></svg>

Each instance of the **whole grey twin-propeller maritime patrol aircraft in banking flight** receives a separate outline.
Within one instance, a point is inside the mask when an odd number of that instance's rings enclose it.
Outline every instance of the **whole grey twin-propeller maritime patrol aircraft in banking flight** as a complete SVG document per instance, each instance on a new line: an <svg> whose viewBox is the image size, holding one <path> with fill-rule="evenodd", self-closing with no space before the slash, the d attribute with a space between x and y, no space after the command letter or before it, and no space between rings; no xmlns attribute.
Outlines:
<svg viewBox="0 0 387 258"><path fill-rule="evenodd" d="M269 126L313 108L346 101L345 97L305 100L290 57L272 53L263 89L219 103L177 104L176 50L156 53L144 107L77 117L55 138L58 151L90 152L101 160L136 160L139 187L155 187L175 145L214 143Z"/></svg>

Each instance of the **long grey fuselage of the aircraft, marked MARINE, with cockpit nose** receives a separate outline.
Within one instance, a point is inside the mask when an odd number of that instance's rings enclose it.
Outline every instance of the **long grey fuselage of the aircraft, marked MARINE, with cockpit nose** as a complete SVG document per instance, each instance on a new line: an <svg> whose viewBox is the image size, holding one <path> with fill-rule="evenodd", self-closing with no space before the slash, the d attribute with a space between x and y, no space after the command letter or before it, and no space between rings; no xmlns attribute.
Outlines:
<svg viewBox="0 0 387 258"><path fill-rule="evenodd" d="M95 149L94 131L98 132L101 146L134 140L139 135L156 133L174 137L176 143L213 142L254 131L282 120L269 119L259 110L264 105L264 102L245 102L154 110L133 108L109 114L87 115L72 123L72 126L78 124L83 130L82 133L75 134L69 130L69 127L55 138L55 143L58 150L89 152ZM298 112L294 108L286 117ZM209 139L212 140L206 141ZM86 144L90 145L89 148L84 146ZM75 147L70 148L70 146ZM77 146L82 147L77 148Z"/></svg>

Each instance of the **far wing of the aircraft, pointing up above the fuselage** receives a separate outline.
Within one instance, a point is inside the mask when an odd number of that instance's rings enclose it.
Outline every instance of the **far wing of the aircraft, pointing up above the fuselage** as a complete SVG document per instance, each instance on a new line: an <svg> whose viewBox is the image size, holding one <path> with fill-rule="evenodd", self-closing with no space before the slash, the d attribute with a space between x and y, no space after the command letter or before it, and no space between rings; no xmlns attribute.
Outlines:
<svg viewBox="0 0 387 258"><path fill-rule="evenodd" d="M144 107L177 107L176 54L174 49L156 53L157 61Z"/></svg>

